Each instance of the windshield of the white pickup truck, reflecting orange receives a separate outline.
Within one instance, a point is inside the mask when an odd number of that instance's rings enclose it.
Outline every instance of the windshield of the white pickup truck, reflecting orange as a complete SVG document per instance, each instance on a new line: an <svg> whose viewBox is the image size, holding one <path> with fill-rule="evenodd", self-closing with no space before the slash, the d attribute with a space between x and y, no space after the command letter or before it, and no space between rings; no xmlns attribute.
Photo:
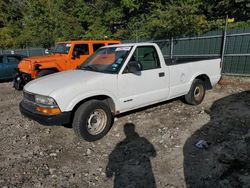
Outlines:
<svg viewBox="0 0 250 188"><path fill-rule="evenodd" d="M94 55L81 64L79 69L117 73L129 54L130 49L130 46L100 48Z"/></svg>

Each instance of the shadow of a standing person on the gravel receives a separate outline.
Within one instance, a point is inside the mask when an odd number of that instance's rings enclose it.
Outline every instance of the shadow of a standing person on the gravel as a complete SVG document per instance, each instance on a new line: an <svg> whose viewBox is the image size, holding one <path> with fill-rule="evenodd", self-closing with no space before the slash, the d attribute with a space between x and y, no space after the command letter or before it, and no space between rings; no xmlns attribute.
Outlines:
<svg viewBox="0 0 250 188"><path fill-rule="evenodd" d="M156 187L150 158L156 156L154 146L135 132L135 125L124 125L126 138L109 155L106 176L114 176L114 187Z"/></svg>

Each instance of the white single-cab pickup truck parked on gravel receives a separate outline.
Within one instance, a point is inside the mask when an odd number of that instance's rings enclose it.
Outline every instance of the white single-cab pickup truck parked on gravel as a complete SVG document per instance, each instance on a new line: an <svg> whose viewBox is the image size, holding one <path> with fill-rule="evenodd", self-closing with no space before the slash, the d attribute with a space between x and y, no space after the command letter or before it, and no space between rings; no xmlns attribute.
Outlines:
<svg viewBox="0 0 250 188"><path fill-rule="evenodd" d="M100 48L77 70L28 83L23 115L44 125L72 124L82 139L103 137L117 114L183 96L200 104L221 77L221 59L164 59L157 44Z"/></svg>

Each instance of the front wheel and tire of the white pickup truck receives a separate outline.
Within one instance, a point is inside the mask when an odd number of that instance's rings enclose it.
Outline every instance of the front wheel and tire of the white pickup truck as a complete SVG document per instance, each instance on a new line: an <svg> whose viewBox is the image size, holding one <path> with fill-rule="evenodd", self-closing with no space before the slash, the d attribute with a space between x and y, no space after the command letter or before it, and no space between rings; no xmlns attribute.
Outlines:
<svg viewBox="0 0 250 188"><path fill-rule="evenodd" d="M109 106L98 100L83 103L76 110L72 123L76 135L87 141L99 140L108 133L111 125L112 114Z"/></svg>

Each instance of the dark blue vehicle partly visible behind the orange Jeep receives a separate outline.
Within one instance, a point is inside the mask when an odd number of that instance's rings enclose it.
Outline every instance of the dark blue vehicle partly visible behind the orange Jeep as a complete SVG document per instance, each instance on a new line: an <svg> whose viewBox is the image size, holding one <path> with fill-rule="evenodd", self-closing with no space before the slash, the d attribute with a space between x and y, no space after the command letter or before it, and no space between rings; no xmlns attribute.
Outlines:
<svg viewBox="0 0 250 188"><path fill-rule="evenodd" d="M17 73L18 63L25 57L18 54L0 55L0 82L13 80Z"/></svg>

